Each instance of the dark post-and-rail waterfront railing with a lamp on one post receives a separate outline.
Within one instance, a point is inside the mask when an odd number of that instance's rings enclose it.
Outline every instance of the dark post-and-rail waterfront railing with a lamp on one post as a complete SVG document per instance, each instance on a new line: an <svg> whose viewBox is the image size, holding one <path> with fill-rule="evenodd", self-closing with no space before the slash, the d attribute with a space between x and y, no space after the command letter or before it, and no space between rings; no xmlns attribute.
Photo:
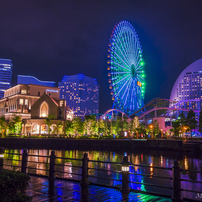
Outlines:
<svg viewBox="0 0 202 202"><path fill-rule="evenodd" d="M172 201L177 201L177 202L182 201L181 193L184 192L184 191L199 194L199 191L181 189L181 182L182 181L191 182L191 183L202 183L201 181L181 179L181 174L188 174L188 173L200 173L200 174L202 174L202 172L201 171L192 171L192 170L183 170L179 166L179 162L177 160L174 161L174 165L172 166L172 168L152 166L152 169L162 169L162 170L170 170L170 171L172 171L172 177L164 177L164 176L152 175L152 178L163 178L163 179L166 179L166 180L172 180L173 181L173 183L172 183L173 186L171 187L171 186L162 186L162 185L159 185L159 184L150 184L150 183L142 183L142 182L130 181L129 180L129 175L140 175L140 176L145 176L145 177L151 177L151 174L131 173L131 172L129 172L129 167L151 168L151 166L149 166L149 165L131 164L131 163L128 162L128 157L127 156L124 156L123 162L109 162L109 161L89 160L87 153L85 153L83 155L82 159L76 159L76 158L56 157L55 151L52 151L50 156L42 156L42 155L39 156L39 155L28 154L27 149L24 149L22 154L16 154L16 153L4 153L4 149L0 148L0 171L3 170L3 165L6 165L3 162L4 154L21 155L22 160L17 160L17 159L15 160L15 161L22 161L21 166L13 166L13 167L20 167L21 172L23 172L23 173L27 173L27 168L36 169L36 168L30 168L30 167L27 166L29 162L36 163L35 161L28 161L28 156L30 156L30 157L46 157L46 158L48 158L49 163L45 163L45 162L39 162L39 163L49 165L49 169L46 170L46 169L37 168L37 170L43 170L43 171L48 171L49 172L48 180L49 180L49 193L50 194L53 193L55 179L56 178L61 179L60 177L56 177L56 175L55 175L56 172L80 176L81 180L67 179L67 178L62 178L62 179L81 182L81 186L83 188L87 187L89 184L104 186L103 184L97 184L97 183L89 182L89 178L97 178L97 179L103 179L103 180L109 180L109 181L113 180L113 181L121 182L121 187L120 188L121 188L121 191L123 193L129 193L131 191L129 185L134 184L134 183L135 184L152 186L152 187L169 189L169 190L172 190ZM80 161L82 166L57 164L56 159ZM7 159L7 160L13 160L13 159ZM89 163L103 163L103 164L119 165L119 166L121 166L121 171L120 170L111 170L111 169L102 169L102 168L90 168ZM9 166L9 165L6 165L6 166ZM73 173L73 172L68 173L68 172L63 172L63 171L58 171L58 170L56 171L55 166L67 166L67 167L77 168L77 169L81 169L82 172L81 172L81 174L79 174L79 173ZM112 179L112 178L107 178L107 177L90 175L89 170L121 173L122 179L120 180L120 179ZM28 174L30 174L30 173L28 173ZM105 186L108 186L108 185L105 185ZM114 188L117 188L117 187L114 187ZM144 191L140 191L140 192L141 193L149 193L149 192L144 192ZM153 194L157 195L157 193L153 193ZM192 201L194 201L194 200L192 200Z"/></svg>

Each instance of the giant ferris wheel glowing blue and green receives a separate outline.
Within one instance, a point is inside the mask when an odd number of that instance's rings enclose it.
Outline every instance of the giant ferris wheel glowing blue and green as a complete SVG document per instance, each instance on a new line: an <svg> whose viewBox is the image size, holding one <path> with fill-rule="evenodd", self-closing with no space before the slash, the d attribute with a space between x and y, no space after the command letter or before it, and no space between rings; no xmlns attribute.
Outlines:
<svg viewBox="0 0 202 202"><path fill-rule="evenodd" d="M145 72L139 38L128 21L114 26L108 52L113 108L131 115L144 106Z"/></svg>

